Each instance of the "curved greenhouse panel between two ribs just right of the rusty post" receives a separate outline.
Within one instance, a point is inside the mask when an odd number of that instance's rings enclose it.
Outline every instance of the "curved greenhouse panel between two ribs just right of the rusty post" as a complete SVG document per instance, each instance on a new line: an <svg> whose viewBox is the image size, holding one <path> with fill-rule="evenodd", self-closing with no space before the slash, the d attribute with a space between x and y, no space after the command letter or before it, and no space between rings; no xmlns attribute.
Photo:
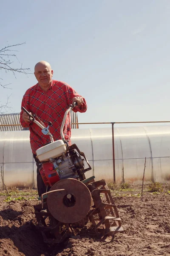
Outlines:
<svg viewBox="0 0 170 256"><path fill-rule="evenodd" d="M150 144L143 127L117 128L122 146L122 181L141 183L145 157L150 158ZM116 133L117 137L117 133ZM150 169L151 168L151 169ZM153 180L152 165L145 178Z"/></svg>

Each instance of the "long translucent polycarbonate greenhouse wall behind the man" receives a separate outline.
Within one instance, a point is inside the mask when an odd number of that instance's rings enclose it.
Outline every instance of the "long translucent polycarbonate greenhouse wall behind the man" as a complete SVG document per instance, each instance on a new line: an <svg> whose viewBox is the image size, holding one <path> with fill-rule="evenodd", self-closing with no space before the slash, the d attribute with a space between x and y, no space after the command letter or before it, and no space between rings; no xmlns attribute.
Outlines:
<svg viewBox="0 0 170 256"><path fill-rule="evenodd" d="M114 135L116 182L124 180L142 184L145 157L145 182L154 179L160 182L170 181L170 125L114 127ZM95 175L96 180L104 178L106 181L113 181L111 128L72 130L71 140L85 153L91 164L92 170L86 172L86 177ZM35 163L33 167L29 131L0 132L2 165L3 156L7 182L13 182L13 186L18 182L32 182L32 186L36 186L37 168Z"/></svg>

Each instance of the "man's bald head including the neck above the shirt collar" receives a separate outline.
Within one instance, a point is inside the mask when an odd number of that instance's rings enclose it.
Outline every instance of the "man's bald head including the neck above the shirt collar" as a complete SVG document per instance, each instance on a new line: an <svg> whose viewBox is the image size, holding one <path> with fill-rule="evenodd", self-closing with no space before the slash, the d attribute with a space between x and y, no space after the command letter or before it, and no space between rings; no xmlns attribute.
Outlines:
<svg viewBox="0 0 170 256"><path fill-rule="evenodd" d="M34 67L34 75L40 87L43 90L48 90L51 86L53 70L47 61L39 61Z"/></svg>

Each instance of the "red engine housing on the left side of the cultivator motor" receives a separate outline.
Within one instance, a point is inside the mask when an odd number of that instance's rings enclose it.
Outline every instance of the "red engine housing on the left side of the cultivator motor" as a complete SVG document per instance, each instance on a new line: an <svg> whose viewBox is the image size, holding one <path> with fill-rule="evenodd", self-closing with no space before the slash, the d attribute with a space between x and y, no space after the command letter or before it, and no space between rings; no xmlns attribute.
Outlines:
<svg viewBox="0 0 170 256"><path fill-rule="evenodd" d="M40 167L40 175L46 186L53 186L60 180L57 171L54 169L53 163L43 163Z"/></svg>

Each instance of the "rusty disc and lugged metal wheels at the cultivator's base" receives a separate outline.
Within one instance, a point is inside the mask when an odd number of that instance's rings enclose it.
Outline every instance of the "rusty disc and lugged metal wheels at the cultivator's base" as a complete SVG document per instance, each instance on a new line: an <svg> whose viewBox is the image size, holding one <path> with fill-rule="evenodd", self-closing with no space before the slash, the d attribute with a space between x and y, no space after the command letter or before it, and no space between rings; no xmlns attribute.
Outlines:
<svg viewBox="0 0 170 256"><path fill-rule="evenodd" d="M105 180L80 182L63 179L55 183L34 206L35 217L46 243L61 243L71 237L74 228L83 228L88 220L101 238L123 231L121 219Z"/></svg>

